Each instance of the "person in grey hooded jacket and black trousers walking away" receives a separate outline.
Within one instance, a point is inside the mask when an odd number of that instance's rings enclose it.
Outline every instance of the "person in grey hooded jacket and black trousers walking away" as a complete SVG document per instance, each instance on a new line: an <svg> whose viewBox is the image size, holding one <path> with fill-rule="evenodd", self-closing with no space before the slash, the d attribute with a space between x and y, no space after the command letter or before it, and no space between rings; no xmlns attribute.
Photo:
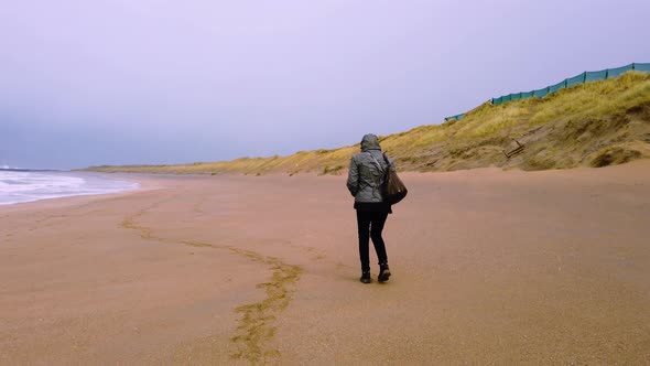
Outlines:
<svg viewBox="0 0 650 366"><path fill-rule="evenodd" d="M391 207L381 195L384 181L383 172L393 169L392 161L387 161L381 153L379 139L375 134L366 134L361 140L361 152L354 155L347 179L347 187L355 196L357 227L359 232L359 257L361 259L361 282L370 283L369 239L372 238L377 258L379 258L379 282L388 281L390 269L386 245L381 237L383 224Z"/></svg>

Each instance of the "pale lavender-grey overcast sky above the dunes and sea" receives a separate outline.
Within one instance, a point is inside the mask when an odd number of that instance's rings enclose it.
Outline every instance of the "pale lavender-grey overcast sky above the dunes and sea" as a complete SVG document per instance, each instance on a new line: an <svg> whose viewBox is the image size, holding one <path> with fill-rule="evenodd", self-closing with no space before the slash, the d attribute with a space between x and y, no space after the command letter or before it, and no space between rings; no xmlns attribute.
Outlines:
<svg viewBox="0 0 650 366"><path fill-rule="evenodd" d="M0 166L291 154L650 62L647 0L20 0Z"/></svg>

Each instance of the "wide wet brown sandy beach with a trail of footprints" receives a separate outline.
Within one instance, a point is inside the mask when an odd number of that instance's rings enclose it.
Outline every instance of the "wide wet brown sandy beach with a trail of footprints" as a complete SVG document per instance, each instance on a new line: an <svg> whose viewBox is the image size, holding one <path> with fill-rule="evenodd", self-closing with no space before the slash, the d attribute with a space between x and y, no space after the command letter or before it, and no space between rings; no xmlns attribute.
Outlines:
<svg viewBox="0 0 650 366"><path fill-rule="evenodd" d="M650 161L403 173L371 284L345 175L115 176L0 206L0 364L650 363Z"/></svg>

